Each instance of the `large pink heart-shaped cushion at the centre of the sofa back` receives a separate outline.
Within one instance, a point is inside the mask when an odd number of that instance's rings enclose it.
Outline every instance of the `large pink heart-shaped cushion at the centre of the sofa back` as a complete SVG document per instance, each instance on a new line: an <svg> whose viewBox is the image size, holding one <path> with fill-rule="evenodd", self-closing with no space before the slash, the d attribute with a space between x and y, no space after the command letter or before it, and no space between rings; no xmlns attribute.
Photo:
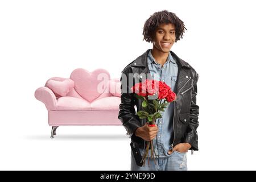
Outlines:
<svg viewBox="0 0 256 182"><path fill-rule="evenodd" d="M89 72L86 69L77 68L71 73L70 78L75 82L76 92L85 100L92 102L105 92L110 74L105 69Z"/></svg>

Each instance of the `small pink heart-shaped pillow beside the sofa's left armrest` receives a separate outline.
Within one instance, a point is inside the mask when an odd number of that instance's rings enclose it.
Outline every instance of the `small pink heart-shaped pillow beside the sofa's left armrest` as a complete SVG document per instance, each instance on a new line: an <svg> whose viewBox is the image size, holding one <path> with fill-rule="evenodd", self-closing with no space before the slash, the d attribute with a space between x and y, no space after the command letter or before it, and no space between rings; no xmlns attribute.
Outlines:
<svg viewBox="0 0 256 182"><path fill-rule="evenodd" d="M71 89L74 87L74 81L71 79L50 79L46 82L46 86L56 94L56 96L64 97L66 96Z"/></svg>

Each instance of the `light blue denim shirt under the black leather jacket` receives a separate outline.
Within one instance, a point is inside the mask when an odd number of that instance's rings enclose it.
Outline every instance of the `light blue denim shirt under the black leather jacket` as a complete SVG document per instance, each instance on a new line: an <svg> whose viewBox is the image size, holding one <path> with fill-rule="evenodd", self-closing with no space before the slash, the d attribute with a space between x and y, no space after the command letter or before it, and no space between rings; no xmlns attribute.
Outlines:
<svg viewBox="0 0 256 182"><path fill-rule="evenodd" d="M166 82L172 90L175 88L175 83L177 80L178 67L174 57L169 56L163 67L157 63L152 56L152 49L148 52L147 64L150 70L150 75L152 79ZM173 142L174 131L172 126L172 121L174 118L174 102L167 105L164 111L160 111L162 118L156 119L156 125L158 126L158 134L153 139L153 144L155 148L155 153L158 157L168 157L168 150L170 150L171 144ZM144 154L144 149L141 149L141 154ZM150 150L148 151L148 156L151 156Z"/></svg>

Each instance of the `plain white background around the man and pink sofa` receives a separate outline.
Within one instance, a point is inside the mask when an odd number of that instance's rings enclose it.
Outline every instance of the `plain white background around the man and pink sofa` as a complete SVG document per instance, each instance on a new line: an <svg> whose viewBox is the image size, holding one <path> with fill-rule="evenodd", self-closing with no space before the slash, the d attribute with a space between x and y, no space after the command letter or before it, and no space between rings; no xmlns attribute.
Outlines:
<svg viewBox="0 0 256 182"><path fill-rule="evenodd" d="M256 169L254 1L0 1L0 169L130 170L122 126L63 126L50 139L34 92L76 68L119 77L152 44L143 24L176 13L173 47L199 73L199 151L189 170Z"/></svg>

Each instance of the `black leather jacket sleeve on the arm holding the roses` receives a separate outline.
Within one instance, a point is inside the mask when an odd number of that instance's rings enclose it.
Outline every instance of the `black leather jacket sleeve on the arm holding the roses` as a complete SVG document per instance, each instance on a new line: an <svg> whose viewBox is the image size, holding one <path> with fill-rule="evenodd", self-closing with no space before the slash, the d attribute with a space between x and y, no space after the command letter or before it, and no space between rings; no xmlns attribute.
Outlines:
<svg viewBox="0 0 256 182"><path fill-rule="evenodd" d="M126 78L123 78L125 76ZM135 130L141 127L140 121L135 114L135 96L129 90L129 76L127 71L122 72L121 81L121 104L119 105L118 119L122 122L131 139L137 140L139 137L135 136Z"/></svg>

